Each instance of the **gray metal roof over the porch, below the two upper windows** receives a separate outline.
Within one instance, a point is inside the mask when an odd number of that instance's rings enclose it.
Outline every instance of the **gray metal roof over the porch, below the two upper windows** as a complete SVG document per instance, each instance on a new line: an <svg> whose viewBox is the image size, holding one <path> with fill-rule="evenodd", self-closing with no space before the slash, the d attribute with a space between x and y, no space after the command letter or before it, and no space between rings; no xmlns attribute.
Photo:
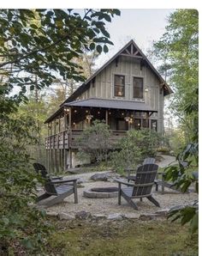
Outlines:
<svg viewBox="0 0 202 256"><path fill-rule="evenodd" d="M107 100L99 98L90 98L81 101L72 101L65 103L63 106L69 107L102 107L102 108L116 108L146 112L157 112L157 110L146 105L144 102L137 101L120 101L120 100Z"/></svg>

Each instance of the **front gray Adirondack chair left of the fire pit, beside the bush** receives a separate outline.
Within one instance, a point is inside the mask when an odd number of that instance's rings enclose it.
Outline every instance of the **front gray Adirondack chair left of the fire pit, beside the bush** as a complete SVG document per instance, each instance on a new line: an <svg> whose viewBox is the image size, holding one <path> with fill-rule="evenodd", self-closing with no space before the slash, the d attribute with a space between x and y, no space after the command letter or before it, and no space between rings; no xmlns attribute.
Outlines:
<svg viewBox="0 0 202 256"><path fill-rule="evenodd" d="M54 196L45 204L46 207L50 207L54 204L62 202L64 198L67 198L74 193L74 204L77 204L78 195L76 180L77 179L50 180L50 178L48 178L45 182L45 193L37 198L37 202Z"/></svg>

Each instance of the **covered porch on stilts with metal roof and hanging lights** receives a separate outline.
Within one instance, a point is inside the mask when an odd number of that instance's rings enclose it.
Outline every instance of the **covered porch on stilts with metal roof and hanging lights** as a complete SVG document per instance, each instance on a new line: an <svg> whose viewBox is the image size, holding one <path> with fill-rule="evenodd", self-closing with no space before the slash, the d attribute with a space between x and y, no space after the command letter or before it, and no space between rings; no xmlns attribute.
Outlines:
<svg viewBox="0 0 202 256"><path fill-rule="evenodd" d="M68 168L72 168L73 153L79 148L76 137L94 120L109 125L110 141L116 143L128 130L144 127L157 131L153 113L157 111L144 102L87 99L65 103L45 121L48 124L48 137L45 138L47 166L54 162L54 169L57 166L66 169L68 159Z"/></svg>

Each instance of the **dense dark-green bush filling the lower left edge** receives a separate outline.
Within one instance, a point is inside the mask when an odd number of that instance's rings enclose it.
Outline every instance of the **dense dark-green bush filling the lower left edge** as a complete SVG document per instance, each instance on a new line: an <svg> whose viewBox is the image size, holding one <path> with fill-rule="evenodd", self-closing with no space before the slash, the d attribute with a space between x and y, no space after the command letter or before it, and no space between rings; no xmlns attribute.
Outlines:
<svg viewBox="0 0 202 256"><path fill-rule="evenodd" d="M26 146L36 142L32 118L6 116L0 123L0 253L18 241L30 253L43 252L49 225L34 206L39 177L29 164ZM41 181L41 180L40 180Z"/></svg>

